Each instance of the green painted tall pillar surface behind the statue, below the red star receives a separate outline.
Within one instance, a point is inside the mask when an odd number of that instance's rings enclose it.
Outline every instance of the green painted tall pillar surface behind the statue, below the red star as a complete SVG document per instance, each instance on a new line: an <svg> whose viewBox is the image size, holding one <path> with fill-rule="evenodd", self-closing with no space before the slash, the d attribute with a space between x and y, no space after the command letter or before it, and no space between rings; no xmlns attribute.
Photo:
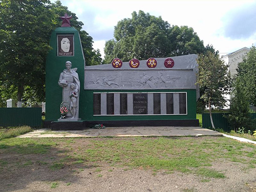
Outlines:
<svg viewBox="0 0 256 192"><path fill-rule="evenodd" d="M57 56L57 35L59 34L74 35L74 56ZM81 88L80 98L86 98L83 90L85 62L79 33L73 27L59 27L55 29L51 35L50 46L53 49L49 52L46 61L46 120L57 120L60 117L59 106L62 101L62 88L58 85L59 75L66 69L66 61L71 61L72 68L78 68L77 73ZM85 108L84 104L80 99L80 109Z"/></svg>

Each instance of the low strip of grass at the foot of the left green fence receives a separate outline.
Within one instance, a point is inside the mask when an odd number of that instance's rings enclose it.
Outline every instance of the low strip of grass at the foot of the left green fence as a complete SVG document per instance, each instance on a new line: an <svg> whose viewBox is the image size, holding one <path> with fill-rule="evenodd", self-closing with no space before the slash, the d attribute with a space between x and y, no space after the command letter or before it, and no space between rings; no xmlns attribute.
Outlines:
<svg viewBox="0 0 256 192"><path fill-rule="evenodd" d="M18 135L22 135L31 131L32 129L30 126L19 126L19 127L11 127L8 129L2 129L0 131L0 140L16 137Z"/></svg>

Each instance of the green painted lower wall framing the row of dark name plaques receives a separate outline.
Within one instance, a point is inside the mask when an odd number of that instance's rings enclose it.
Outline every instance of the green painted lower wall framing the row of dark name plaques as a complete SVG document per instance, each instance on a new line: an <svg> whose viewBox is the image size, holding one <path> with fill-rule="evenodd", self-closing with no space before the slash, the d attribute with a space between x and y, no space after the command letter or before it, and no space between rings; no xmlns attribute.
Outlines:
<svg viewBox="0 0 256 192"><path fill-rule="evenodd" d="M82 120L167 120L167 119L196 119L196 90L84 90L86 92L84 100L85 108ZM125 115L125 116L93 116L93 93L103 92L187 92L187 115Z"/></svg>

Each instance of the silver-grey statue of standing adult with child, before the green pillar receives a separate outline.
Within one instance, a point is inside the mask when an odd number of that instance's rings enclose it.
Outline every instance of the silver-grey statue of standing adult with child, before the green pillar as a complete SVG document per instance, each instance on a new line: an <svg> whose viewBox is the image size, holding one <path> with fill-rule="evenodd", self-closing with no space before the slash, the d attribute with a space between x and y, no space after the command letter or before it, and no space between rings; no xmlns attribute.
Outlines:
<svg viewBox="0 0 256 192"><path fill-rule="evenodd" d="M66 119L78 119L79 116L79 92L80 81L77 68L71 69L72 63L66 62L66 68L60 73L58 84L62 87L62 101L68 101L70 104L70 110L66 114Z"/></svg>

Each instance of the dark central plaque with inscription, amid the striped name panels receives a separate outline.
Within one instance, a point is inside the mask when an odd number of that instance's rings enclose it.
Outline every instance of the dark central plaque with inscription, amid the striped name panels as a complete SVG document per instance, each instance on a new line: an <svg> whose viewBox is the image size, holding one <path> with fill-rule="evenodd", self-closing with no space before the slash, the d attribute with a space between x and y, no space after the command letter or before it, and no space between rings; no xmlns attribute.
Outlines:
<svg viewBox="0 0 256 192"><path fill-rule="evenodd" d="M147 114L147 93L133 94L133 114Z"/></svg>

